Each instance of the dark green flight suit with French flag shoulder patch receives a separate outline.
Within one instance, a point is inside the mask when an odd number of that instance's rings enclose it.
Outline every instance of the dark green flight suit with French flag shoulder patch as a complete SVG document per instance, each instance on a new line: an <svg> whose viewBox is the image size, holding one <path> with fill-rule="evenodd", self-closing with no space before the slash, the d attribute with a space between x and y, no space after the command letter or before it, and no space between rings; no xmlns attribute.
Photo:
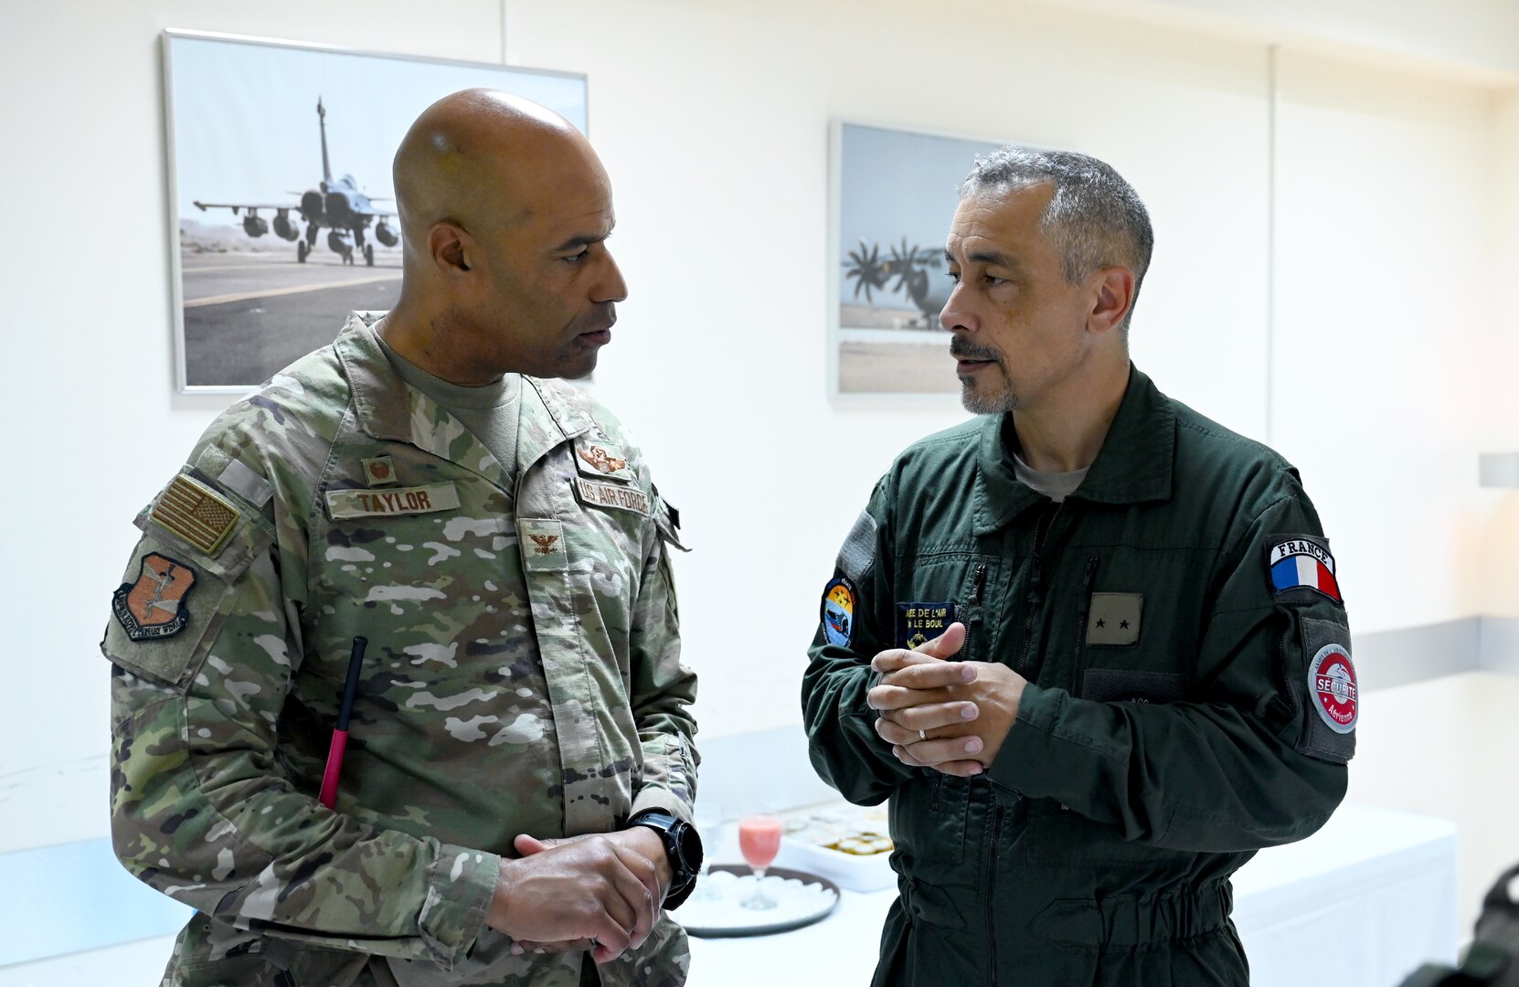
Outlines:
<svg viewBox="0 0 1519 987"><path fill-rule="evenodd" d="M1009 416L930 436L838 556L802 685L811 759L890 799L901 896L876 984L1247 984L1229 876L1346 790L1355 682L1297 472L1136 369L1062 504ZM1306 575L1305 575L1306 572ZM901 764L866 705L881 650L962 621L1028 679L980 776Z"/></svg>

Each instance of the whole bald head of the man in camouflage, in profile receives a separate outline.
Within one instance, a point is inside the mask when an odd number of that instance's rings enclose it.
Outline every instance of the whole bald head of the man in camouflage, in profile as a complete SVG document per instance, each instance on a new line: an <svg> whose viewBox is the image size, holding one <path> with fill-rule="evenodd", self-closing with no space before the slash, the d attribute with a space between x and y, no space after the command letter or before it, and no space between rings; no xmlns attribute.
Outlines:
<svg viewBox="0 0 1519 987"><path fill-rule="evenodd" d="M591 372L627 284L606 249L612 184L564 117L447 96L401 141L395 199L401 296L380 333L398 354L465 386Z"/></svg>

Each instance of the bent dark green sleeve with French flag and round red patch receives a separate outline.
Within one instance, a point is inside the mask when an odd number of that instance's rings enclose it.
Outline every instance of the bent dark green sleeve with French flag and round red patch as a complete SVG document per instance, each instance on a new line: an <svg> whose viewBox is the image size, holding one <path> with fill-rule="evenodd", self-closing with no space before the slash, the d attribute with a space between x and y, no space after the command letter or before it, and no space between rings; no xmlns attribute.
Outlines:
<svg viewBox="0 0 1519 987"><path fill-rule="evenodd" d="M1177 850L1288 843L1329 818L1355 749L1350 632L1318 516L1282 480L1221 559L1192 702L1030 685L992 780Z"/></svg>

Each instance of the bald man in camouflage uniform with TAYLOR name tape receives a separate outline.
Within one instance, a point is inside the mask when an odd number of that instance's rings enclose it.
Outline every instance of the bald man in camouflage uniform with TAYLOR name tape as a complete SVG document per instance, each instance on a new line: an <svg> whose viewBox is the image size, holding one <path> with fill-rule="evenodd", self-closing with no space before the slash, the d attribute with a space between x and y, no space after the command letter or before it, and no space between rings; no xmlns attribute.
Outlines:
<svg viewBox="0 0 1519 987"><path fill-rule="evenodd" d="M232 405L137 519L102 645L115 852L197 910L166 985L682 984L673 510L553 380L626 296L606 172L469 90L416 120L395 188L396 307Z"/></svg>

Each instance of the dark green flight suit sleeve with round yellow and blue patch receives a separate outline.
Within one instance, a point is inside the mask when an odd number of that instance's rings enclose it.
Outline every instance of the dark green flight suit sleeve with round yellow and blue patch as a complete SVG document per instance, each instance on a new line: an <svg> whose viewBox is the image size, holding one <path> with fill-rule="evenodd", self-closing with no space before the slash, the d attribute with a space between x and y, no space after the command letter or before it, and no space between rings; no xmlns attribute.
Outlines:
<svg viewBox="0 0 1519 987"><path fill-rule="evenodd" d="M813 767L845 799L884 802L913 776L875 732L866 692L880 679L870 659L890 647L892 480L883 477L823 586L819 629L802 677L802 720Z"/></svg>

